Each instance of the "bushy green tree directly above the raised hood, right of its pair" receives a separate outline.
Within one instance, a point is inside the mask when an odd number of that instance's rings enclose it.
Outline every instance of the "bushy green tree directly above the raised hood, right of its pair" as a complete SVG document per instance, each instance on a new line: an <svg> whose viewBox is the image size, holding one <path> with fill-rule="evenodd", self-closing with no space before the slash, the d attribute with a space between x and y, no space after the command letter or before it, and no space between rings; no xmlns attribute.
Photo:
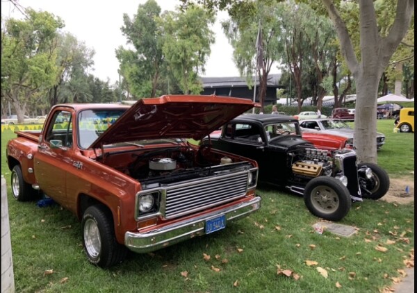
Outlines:
<svg viewBox="0 0 417 293"><path fill-rule="evenodd" d="M165 12L161 18L163 53L185 94L202 92L199 74L205 72L204 65L214 43L210 28L213 23L213 15L198 6L185 12Z"/></svg>

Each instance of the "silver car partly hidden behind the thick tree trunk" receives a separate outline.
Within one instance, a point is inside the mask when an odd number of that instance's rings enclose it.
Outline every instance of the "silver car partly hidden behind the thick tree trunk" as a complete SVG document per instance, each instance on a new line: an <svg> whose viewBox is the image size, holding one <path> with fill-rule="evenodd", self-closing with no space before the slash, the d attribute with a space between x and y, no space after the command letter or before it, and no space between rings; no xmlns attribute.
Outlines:
<svg viewBox="0 0 417 293"><path fill-rule="evenodd" d="M305 119L300 122L303 133L329 133L341 135L347 138L347 144L353 148L354 129L340 119ZM385 144L384 133L377 133L377 149L381 149Z"/></svg>

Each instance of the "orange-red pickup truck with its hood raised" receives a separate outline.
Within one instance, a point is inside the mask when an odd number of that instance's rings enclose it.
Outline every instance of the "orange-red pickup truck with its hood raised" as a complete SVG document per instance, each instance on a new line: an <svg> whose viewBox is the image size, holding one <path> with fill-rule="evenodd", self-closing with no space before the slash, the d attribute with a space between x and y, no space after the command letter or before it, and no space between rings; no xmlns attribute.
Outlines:
<svg viewBox="0 0 417 293"><path fill-rule="evenodd" d="M122 262L127 249L146 253L218 231L260 208L258 165L186 139L254 106L213 95L54 106L42 132L18 131L7 144L13 196L42 192L72 211L99 267Z"/></svg>

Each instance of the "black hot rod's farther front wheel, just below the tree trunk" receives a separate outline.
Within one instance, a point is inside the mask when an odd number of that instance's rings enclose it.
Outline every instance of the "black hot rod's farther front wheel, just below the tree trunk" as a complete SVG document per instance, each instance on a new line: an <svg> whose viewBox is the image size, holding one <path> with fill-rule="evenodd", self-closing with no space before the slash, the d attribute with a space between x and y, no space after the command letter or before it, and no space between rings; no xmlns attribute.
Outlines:
<svg viewBox="0 0 417 293"><path fill-rule="evenodd" d="M372 170L370 179L366 178L365 167ZM389 190L389 176L384 169L371 162L359 163L359 186L364 199L380 199Z"/></svg>

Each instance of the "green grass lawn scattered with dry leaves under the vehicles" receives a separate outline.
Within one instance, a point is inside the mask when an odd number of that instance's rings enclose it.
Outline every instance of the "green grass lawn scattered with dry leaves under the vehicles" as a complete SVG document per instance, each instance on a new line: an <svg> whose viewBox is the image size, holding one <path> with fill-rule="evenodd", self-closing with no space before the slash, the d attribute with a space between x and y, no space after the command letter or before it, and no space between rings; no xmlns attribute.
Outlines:
<svg viewBox="0 0 417 293"><path fill-rule="evenodd" d="M414 134L393 133L393 120L379 120L377 130L386 135L378 164L391 177L410 176ZM379 292L401 276L404 262L414 261L414 202L354 203L338 224L354 226L355 235L320 235L312 228L320 219L302 197L259 186L262 207L250 217L99 269L85 258L80 223L70 212L11 196L5 147L12 137L11 131L1 135L1 174L8 184L16 292ZM291 276L278 274L284 270Z"/></svg>

